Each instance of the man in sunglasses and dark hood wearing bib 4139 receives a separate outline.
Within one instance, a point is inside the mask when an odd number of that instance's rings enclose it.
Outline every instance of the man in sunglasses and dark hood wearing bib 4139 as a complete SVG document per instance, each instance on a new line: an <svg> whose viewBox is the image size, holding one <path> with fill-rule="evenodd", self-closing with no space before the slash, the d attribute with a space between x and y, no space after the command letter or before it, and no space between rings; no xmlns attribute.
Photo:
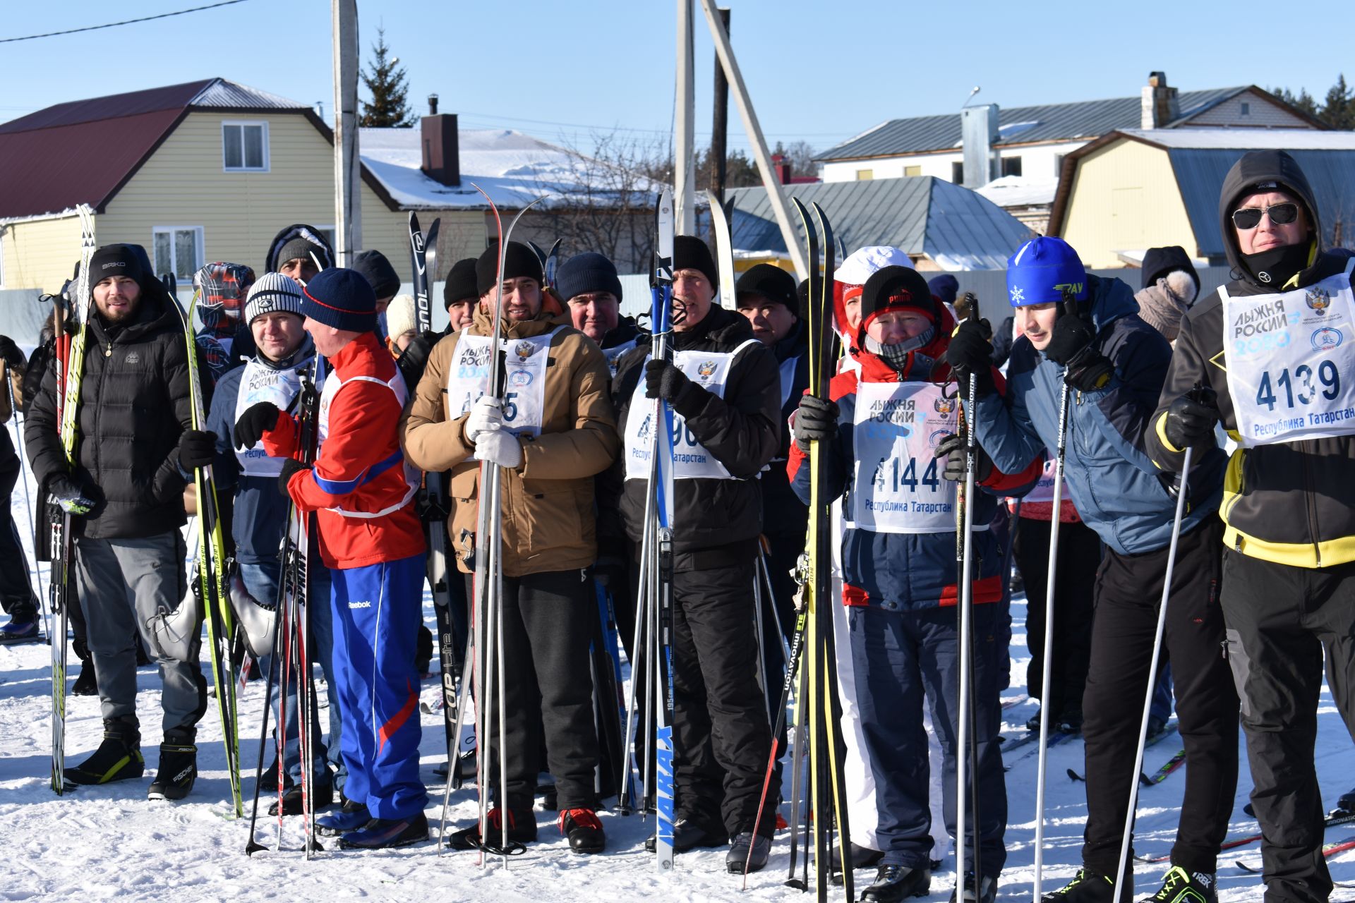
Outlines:
<svg viewBox="0 0 1355 903"><path fill-rule="evenodd" d="M1283 150L1245 154L1220 196L1238 276L1182 322L1149 454L1164 470L1238 443L1220 514L1228 658L1243 703L1267 903L1325 900L1313 766L1322 650L1351 723L1355 677L1355 298L1322 249L1308 179ZM1214 403L1196 401L1213 389Z"/></svg>

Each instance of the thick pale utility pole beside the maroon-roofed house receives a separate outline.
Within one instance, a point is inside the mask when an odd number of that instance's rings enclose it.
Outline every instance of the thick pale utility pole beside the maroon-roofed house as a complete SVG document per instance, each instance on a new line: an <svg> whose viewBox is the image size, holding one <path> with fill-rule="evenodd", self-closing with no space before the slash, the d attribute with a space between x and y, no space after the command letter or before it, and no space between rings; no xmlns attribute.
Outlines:
<svg viewBox="0 0 1355 903"><path fill-rule="evenodd" d="M335 54L335 261L352 263L362 246L358 157L358 0L332 0Z"/></svg>

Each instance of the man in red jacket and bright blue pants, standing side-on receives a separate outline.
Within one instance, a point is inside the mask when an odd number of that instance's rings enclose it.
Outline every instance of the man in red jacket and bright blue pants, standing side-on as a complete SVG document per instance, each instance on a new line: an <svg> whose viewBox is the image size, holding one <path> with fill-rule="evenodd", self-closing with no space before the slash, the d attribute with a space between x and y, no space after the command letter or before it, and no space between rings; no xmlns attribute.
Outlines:
<svg viewBox="0 0 1355 903"><path fill-rule="evenodd" d="M343 811L317 820L339 845L378 849L428 837L419 778L419 673L424 539L413 497L420 474L405 462L397 424L408 393L373 332L377 295L362 273L329 268L302 290L304 328L333 372L320 395L313 466L297 458L301 424L271 402L236 422L236 445L282 456L278 491L316 512L331 574L337 697L348 768Z"/></svg>

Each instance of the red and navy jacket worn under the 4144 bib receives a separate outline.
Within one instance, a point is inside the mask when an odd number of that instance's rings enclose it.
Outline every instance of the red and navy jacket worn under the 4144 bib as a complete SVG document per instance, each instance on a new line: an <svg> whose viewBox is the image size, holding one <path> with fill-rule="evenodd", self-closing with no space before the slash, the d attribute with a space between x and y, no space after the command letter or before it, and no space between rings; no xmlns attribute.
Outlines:
<svg viewBox="0 0 1355 903"><path fill-rule="evenodd" d="M821 443L821 467L827 474L828 497L843 495L843 509L851 510L854 421L859 382L897 383L923 379L944 383L950 368L942 361L950 344L950 315L943 314L938 337L909 355L904 375L877 355L852 349L860 363L860 372L843 372L829 383L829 397L837 403L837 435ZM993 368L997 391L1005 391L1001 374ZM984 491L974 497L974 523L988 524L997 513L999 495L1023 495L1038 482L1043 460L1034 460L1019 474L1003 474L996 467L982 481ZM791 444L786 466L791 487L799 500L809 504L809 455ZM1003 598L1003 555L991 531L976 532L973 552L977 556L974 574L974 602L997 602ZM936 533L885 533L858 527L843 532L843 604L878 605L892 611L915 611L954 605L958 600L955 560L955 531Z"/></svg>

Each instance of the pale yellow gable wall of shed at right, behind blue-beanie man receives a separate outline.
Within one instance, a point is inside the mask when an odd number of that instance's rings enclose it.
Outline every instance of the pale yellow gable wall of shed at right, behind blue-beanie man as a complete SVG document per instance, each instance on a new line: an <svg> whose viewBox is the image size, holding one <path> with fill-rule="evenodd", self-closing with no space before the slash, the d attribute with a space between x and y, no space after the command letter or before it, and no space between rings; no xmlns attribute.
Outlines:
<svg viewBox="0 0 1355 903"><path fill-rule="evenodd" d="M1180 245L1196 252L1167 152L1129 139L1077 162L1061 237L1091 268L1123 267L1121 250Z"/></svg>

